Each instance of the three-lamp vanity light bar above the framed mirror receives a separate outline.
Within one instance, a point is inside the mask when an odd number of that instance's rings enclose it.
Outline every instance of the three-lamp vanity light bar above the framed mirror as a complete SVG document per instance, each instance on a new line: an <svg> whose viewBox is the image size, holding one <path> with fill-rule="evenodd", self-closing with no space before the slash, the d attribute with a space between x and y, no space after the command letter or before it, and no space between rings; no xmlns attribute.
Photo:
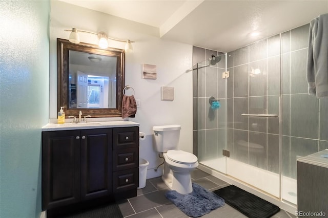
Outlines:
<svg viewBox="0 0 328 218"><path fill-rule="evenodd" d="M106 49L108 47L108 39L114 40L114 41L120 41L120 42L126 42L125 45L125 51L126 52L132 52L133 48L132 48L132 44L130 39L128 40L119 40L119 39L115 39L115 38L110 38L108 37L107 33L105 32L99 32L99 33L94 33L94 32L90 32L90 31L86 31L86 30L77 30L76 28L72 28L72 30L65 30L65 31L71 31L70 37L69 37L69 41L78 44L80 42L80 37L78 35L78 32L83 32L83 33L91 33L94 35L97 35L99 38L99 47Z"/></svg>

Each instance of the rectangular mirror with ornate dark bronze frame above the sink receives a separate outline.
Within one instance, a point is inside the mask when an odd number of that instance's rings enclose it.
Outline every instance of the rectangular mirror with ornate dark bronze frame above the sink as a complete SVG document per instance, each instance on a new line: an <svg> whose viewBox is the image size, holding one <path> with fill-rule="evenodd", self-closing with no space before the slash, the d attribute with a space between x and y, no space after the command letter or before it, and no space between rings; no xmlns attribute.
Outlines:
<svg viewBox="0 0 328 218"><path fill-rule="evenodd" d="M57 38L57 107L65 117L120 117L125 51Z"/></svg>

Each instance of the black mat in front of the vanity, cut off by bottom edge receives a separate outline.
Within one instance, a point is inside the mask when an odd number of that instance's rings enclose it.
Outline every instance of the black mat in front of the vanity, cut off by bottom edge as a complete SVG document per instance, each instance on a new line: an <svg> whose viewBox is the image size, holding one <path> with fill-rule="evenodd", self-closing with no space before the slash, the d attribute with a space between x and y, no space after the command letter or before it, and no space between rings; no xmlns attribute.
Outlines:
<svg viewBox="0 0 328 218"><path fill-rule="evenodd" d="M78 213L61 216L63 218L123 218L116 203L101 205L92 209L79 211Z"/></svg>

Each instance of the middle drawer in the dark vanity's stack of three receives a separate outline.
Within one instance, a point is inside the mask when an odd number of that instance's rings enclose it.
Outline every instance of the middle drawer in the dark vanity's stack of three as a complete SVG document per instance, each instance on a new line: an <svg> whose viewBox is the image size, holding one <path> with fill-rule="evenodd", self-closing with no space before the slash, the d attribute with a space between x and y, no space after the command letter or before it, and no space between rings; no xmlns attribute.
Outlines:
<svg viewBox="0 0 328 218"><path fill-rule="evenodd" d="M113 150L113 171L139 166L139 148Z"/></svg>

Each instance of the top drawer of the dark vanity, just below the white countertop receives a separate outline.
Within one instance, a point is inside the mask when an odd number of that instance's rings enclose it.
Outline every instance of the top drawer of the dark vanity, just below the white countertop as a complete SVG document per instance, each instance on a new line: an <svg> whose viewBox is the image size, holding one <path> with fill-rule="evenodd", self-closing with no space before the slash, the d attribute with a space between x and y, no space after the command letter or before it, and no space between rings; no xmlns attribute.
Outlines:
<svg viewBox="0 0 328 218"><path fill-rule="evenodd" d="M113 129L113 149L139 146L139 127L124 127Z"/></svg>

